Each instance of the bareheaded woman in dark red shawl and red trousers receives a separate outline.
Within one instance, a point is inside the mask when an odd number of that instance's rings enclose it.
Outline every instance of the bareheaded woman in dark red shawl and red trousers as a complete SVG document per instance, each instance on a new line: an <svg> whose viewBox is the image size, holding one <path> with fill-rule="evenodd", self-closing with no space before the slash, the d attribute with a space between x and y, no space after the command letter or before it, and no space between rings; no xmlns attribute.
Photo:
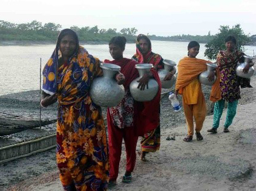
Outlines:
<svg viewBox="0 0 256 191"><path fill-rule="evenodd" d="M125 141L126 149L126 172L122 181L130 183L131 172L136 163L136 145L138 136L142 136L146 131L153 130L159 124L159 101L160 89L153 101L136 102L130 93L130 83L139 77L139 72L135 68L136 61L123 58L125 50L125 37L117 36L110 40L110 54L114 60L104 60L105 63L117 64L121 67L120 72L125 75L125 97L116 107L108 108L108 138L110 149L110 184L116 184L119 172L119 162L122 152L122 140ZM156 70L152 69L153 77L160 80ZM145 88L149 80L149 75L145 74L139 80L139 87Z"/></svg>

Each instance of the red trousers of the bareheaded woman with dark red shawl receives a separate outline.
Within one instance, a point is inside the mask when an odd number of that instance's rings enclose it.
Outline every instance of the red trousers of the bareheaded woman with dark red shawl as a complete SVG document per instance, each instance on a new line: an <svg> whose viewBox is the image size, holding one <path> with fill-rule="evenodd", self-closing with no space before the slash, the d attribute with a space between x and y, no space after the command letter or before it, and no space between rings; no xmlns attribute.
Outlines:
<svg viewBox="0 0 256 191"><path fill-rule="evenodd" d="M110 149L110 180L116 180L122 154L122 141L125 140L126 171L133 172L136 163L136 145L138 136L133 127L120 129L108 121L108 139Z"/></svg>

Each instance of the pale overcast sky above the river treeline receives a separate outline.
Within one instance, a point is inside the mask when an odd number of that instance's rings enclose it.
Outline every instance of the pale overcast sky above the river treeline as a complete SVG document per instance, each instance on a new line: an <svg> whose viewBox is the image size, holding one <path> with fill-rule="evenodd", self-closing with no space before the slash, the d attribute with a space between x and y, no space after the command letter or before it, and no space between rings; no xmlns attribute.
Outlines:
<svg viewBox="0 0 256 191"><path fill-rule="evenodd" d="M255 0L1 0L0 20L32 20L77 27L135 27L138 33L172 36L207 35L220 25L240 23L245 34L256 34Z"/></svg>

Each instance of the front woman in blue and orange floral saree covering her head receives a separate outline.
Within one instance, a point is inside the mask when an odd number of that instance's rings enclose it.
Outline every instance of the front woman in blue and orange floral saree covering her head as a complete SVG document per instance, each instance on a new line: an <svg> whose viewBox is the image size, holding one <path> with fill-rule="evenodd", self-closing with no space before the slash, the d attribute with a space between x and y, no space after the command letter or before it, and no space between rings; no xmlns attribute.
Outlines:
<svg viewBox="0 0 256 191"><path fill-rule="evenodd" d="M89 94L91 81L102 75L99 64L65 29L43 70L42 107L59 101L56 158L64 190L107 190L105 126Z"/></svg>

